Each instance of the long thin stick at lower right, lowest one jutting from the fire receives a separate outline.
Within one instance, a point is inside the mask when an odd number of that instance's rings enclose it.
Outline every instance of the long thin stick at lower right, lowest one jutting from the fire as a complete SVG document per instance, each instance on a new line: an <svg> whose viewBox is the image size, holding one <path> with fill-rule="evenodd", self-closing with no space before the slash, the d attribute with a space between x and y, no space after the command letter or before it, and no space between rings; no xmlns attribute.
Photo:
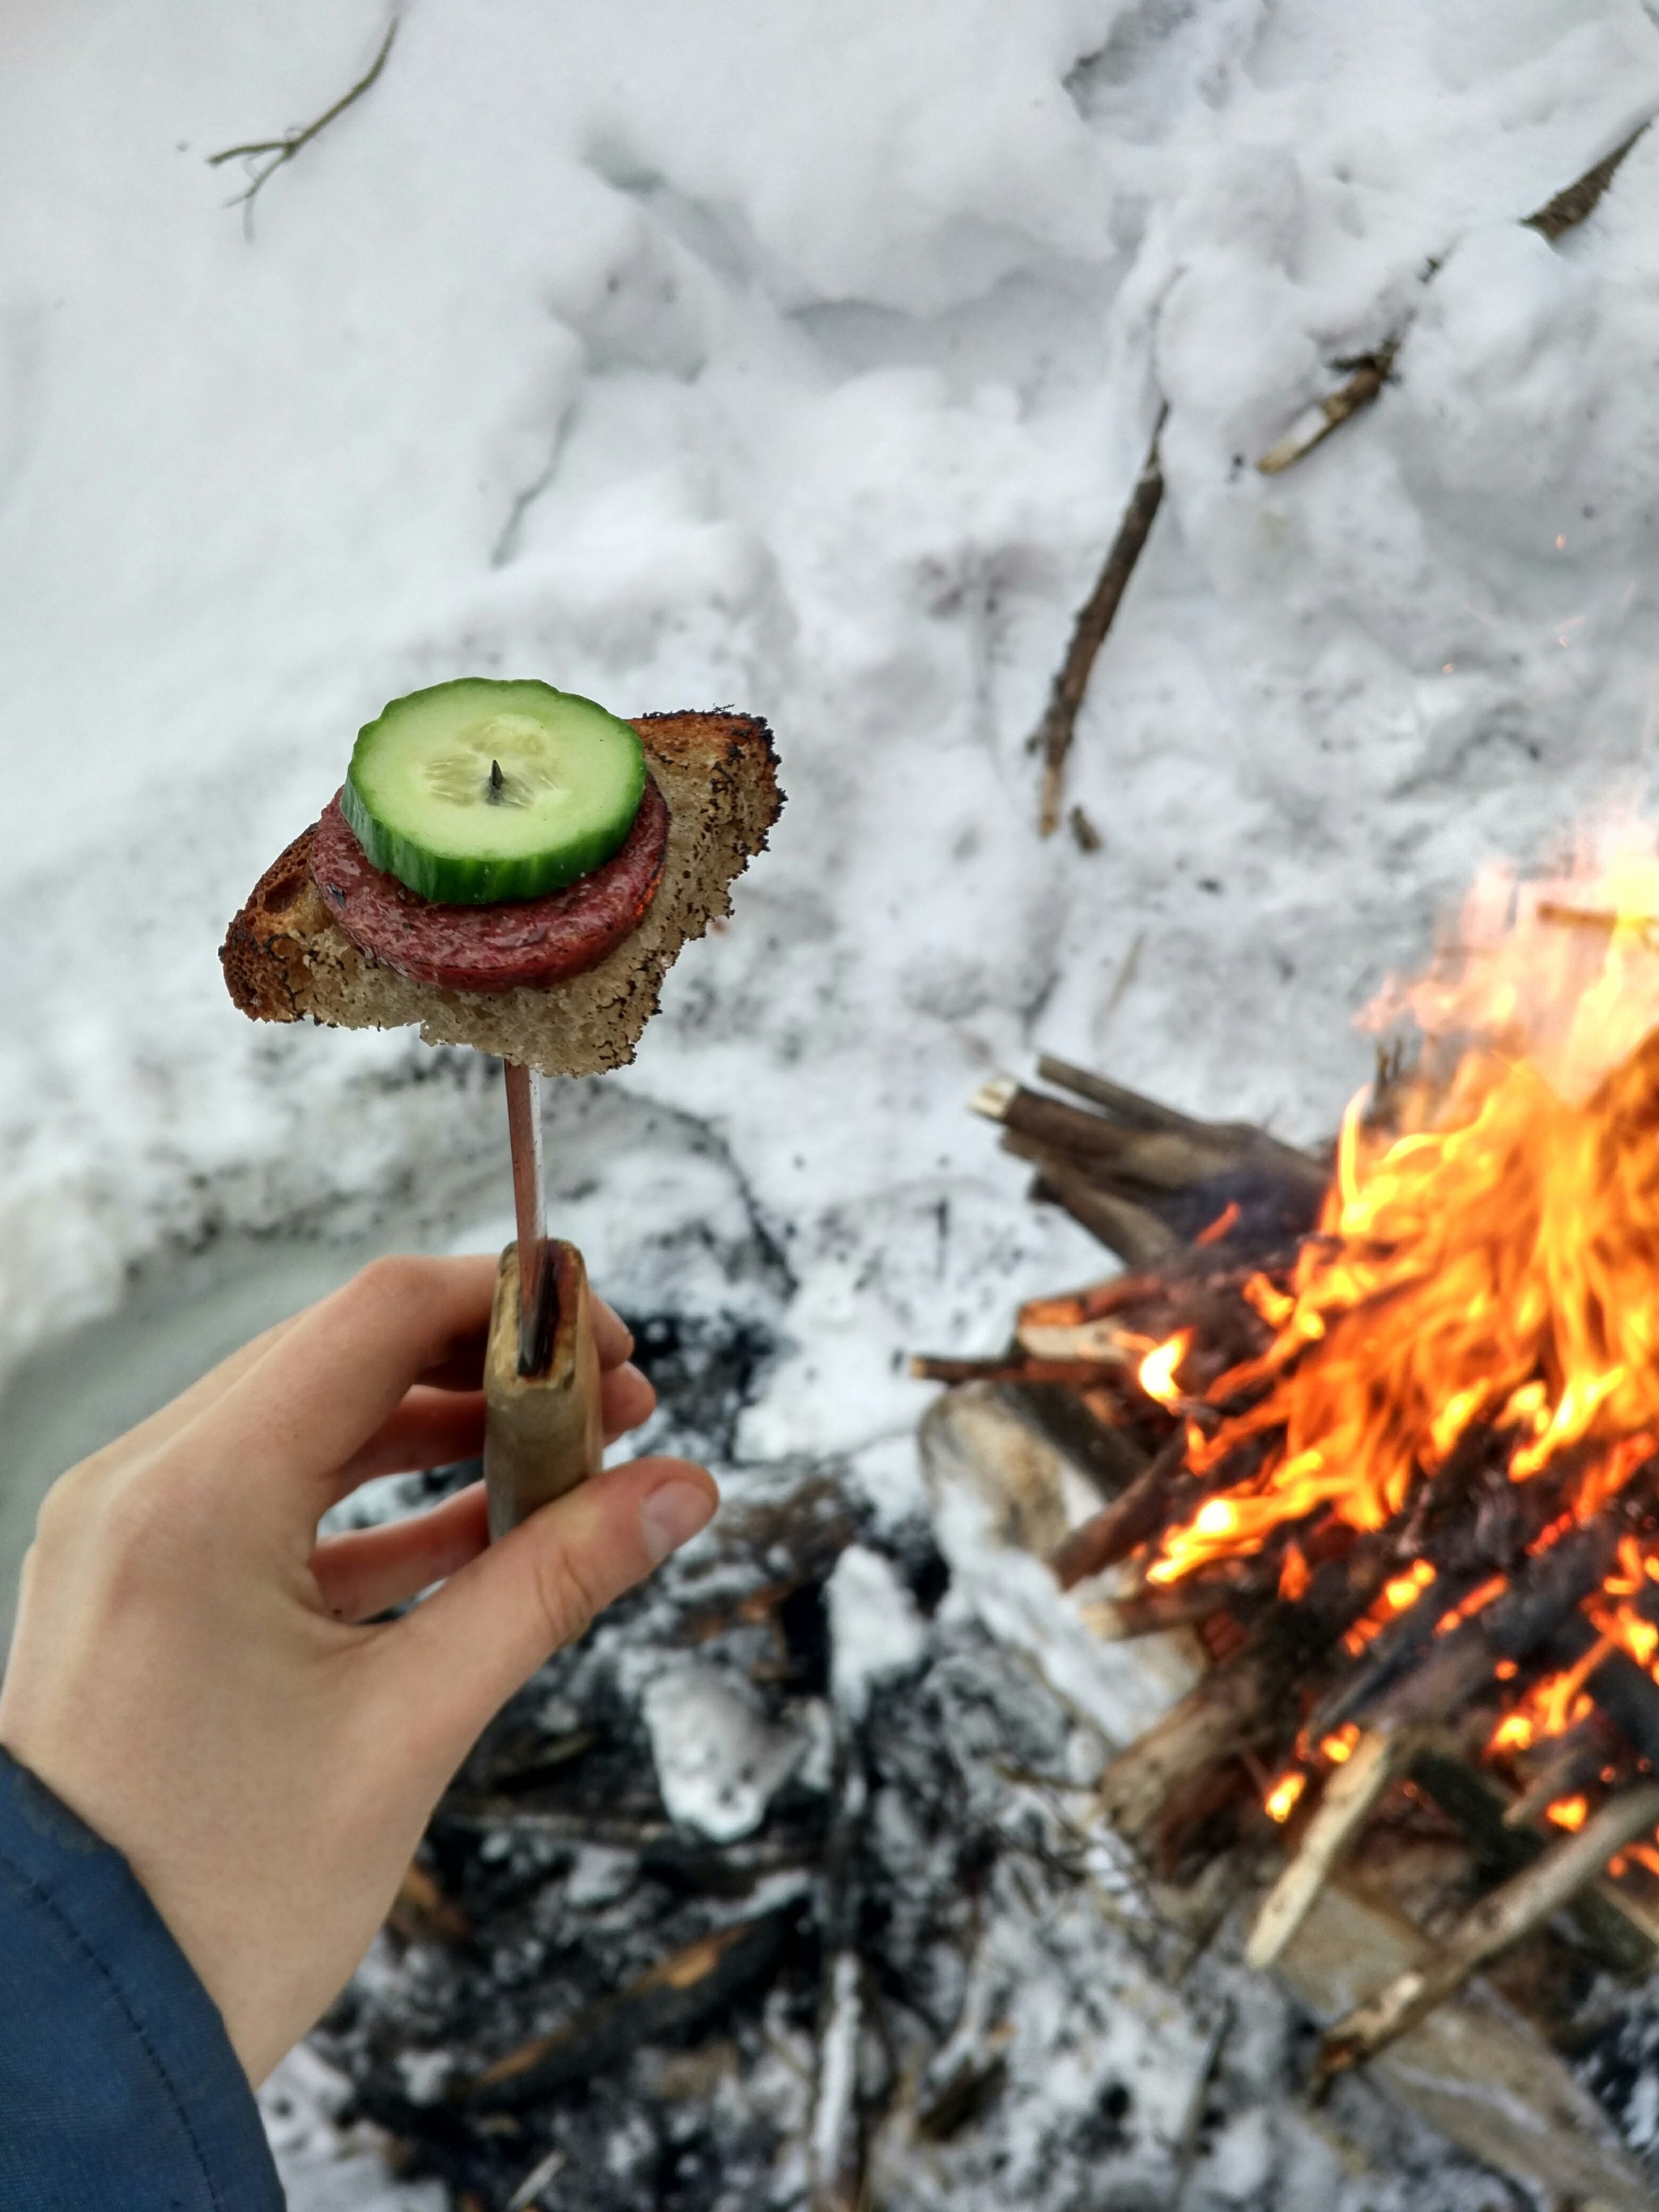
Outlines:
<svg viewBox="0 0 1659 2212"><path fill-rule="evenodd" d="M1655 1825L1659 1825L1659 1783L1641 1783L1637 1790L1608 1798L1577 1836L1564 1836L1524 1874L1482 1898L1449 1936L1433 1944L1425 1960L1407 1966L1374 1997L1338 2020L1321 2046L1316 2079L1329 2079L1385 2051L1436 2004L1462 1989L1489 1958L1520 1942L1593 1882L1621 1845L1632 1843Z"/></svg>

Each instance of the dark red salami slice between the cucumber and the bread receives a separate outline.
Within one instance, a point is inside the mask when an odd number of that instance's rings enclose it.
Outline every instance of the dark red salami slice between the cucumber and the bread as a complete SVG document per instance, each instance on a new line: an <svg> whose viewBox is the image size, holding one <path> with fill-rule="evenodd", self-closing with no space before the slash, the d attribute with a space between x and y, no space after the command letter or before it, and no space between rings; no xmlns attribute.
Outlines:
<svg viewBox="0 0 1659 2212"><path fill-rule="evenodd" d="M336 794L312 841L312 880L347 938L398 975L449 991L511 991L597 967L639 927L666 852L668 807L646 776L633 830L591 876L544 898L438 907L369 863Z"/></svg>

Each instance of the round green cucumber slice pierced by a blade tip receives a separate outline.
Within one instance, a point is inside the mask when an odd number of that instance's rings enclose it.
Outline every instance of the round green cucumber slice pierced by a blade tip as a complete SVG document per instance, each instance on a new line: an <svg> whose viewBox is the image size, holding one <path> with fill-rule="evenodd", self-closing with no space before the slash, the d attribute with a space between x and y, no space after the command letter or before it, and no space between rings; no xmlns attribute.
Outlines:
<svg viewBox="0 0 1659 2212"><path fill-rule="evenodd" d="M602 867L644 790L639 737L593 699L458 677L358 730L341 812L374 867L438 905L487 907Z"/></svg>

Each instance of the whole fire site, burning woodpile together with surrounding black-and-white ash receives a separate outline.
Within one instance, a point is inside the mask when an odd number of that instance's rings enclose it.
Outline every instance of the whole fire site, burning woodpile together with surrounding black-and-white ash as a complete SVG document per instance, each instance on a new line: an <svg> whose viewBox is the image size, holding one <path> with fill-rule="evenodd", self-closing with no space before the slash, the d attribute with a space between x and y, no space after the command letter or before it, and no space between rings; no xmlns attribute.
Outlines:
<svg viewBox="0 0 1659 2212"><path fill-rule="evenodd" d="M1378 2203L1652 2208L1655 841L1369 1020L1329 1157L980 1093L1124 1272L914 1363L927 1511L730 1464L770 1338L635 1316L728 1509L467 1761L338 2126L458 2212L1179 2205L1267 2115L1250 2201L1332 2130Z"/></svg>

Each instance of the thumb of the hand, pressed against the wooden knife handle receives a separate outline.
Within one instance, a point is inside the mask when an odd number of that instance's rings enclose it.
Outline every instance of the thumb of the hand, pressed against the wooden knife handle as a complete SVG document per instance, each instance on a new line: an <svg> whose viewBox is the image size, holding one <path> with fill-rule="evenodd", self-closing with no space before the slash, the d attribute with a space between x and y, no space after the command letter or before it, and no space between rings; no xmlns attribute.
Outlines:
<svg viewBox="0 0 1659 2212"><path fill-rule="evenodd" d="M562 1644L690 1542L719 1504L690 1460L611 1467L471 1559L385 1637L398 1703L453 1767Z"/></svg>

